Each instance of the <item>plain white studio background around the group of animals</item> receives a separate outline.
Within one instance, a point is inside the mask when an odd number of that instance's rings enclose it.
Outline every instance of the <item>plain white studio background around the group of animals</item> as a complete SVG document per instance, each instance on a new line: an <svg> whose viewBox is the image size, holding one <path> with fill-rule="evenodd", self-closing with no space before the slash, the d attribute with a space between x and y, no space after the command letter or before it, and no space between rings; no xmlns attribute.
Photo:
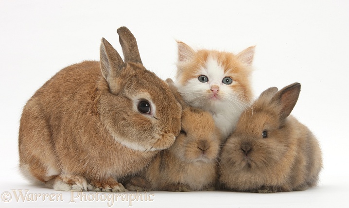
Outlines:
<svg viewBox="0 0 349 208"><path fill-rule="evenodd" d="M16 202L11 190L60 193L35 187L18 173L18 126L27 100L60 69L98 60L105 37L119 52L120 26L136 36L144 66L175 75L175 39L195 49L240 52L256 45L253 89L299 82L293 115L317 136L324 168L318 187L276 194L155 192L133 207L343 207L348 206L349 2L345 0L0 0L0 207L102 206L106 202ZM272 173L270 173L272 174ZM41 200L42 201L42 200ZM35 204L38 203L38 204ZM114 207L127 207L115 202Z"/></svg>

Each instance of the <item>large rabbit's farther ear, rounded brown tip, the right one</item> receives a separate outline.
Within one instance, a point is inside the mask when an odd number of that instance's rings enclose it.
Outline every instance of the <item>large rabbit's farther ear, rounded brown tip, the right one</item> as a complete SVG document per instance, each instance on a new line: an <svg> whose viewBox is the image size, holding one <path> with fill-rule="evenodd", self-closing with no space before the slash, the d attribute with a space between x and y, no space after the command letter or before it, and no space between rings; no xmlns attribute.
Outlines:
<svg viewBox="0 0 349 208"><path fill-rule="evenodd" d="M119 41L125 63L134 62L142 64L135 36L132 35L127 27L119 28L117 33L119 34Z"/></svg>

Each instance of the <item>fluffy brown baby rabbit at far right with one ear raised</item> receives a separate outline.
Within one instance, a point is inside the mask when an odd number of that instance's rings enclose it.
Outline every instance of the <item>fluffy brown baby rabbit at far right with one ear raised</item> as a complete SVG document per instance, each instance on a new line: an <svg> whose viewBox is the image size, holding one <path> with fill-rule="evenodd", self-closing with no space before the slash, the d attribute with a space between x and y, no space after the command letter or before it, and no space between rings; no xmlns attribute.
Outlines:
<svg viewBox="0 0 349 208"><path fill-rule="evenodd" d="M301 191L316 186L322 154L312 132L289 116L300 92L271 87L247 109L225 143L219 181L228 190Z"/></svg>

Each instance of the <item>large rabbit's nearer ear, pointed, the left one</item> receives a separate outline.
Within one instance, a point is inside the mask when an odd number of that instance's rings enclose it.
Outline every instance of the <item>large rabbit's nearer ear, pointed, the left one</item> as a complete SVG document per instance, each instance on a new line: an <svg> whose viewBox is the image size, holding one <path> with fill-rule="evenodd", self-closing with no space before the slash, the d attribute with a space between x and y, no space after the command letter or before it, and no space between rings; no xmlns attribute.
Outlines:
<svg viewBox="0 0 349 208"><path fill-rule="evenodd" d="M119 89L116 78L120 71L125 67L125 64L119 53L108 41L105 40L105 38L102 38L100 59L102 75L108 82L111 91L116 93Z"/></svg>

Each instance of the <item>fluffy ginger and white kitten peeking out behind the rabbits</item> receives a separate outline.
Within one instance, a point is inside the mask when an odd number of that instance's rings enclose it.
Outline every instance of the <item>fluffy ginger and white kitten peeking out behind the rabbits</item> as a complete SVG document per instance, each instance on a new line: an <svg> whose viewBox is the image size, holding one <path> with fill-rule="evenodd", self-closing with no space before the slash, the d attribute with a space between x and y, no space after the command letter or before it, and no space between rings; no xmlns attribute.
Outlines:
<svg viewBox="0 0 349 208"><path fill-rule="evenodd" d="M250 74L255 47L233 54L215 50L194 51L178 43L175 85L188 104L209 111L225 140L252 100Z"/></svg>

